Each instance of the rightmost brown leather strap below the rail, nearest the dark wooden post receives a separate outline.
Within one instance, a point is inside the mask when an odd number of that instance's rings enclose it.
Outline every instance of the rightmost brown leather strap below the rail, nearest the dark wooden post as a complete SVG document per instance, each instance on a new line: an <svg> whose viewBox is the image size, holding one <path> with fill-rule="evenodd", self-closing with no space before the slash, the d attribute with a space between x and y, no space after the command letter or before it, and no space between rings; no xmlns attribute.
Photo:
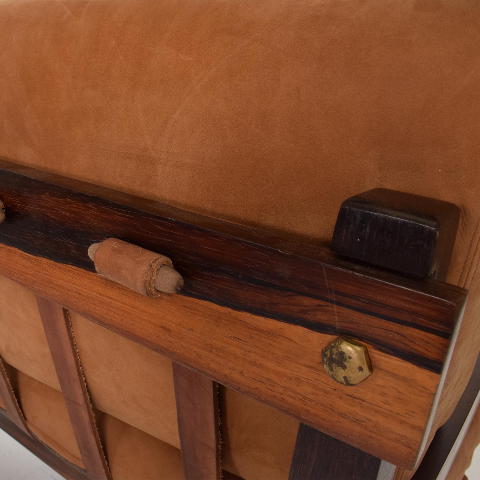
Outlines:
<svg viewBox="0 0 480 480"><path fill-rule="evenodd" d="M220 468L218 387L209 378L172 362L185 480L217 480Z"/></svg>

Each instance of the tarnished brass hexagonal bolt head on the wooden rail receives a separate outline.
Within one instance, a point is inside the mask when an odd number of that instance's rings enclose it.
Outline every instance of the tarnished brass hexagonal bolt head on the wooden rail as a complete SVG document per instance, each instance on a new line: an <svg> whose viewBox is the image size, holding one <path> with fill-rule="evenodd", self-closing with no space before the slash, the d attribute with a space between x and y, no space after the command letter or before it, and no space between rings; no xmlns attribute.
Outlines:
<svg viewBox="0 0 480 480"><path fill-rule="evenodd" d="M325 372L343 385L356 385L372 373L372 363L365 345L339 336L322 350Z"/></svg>

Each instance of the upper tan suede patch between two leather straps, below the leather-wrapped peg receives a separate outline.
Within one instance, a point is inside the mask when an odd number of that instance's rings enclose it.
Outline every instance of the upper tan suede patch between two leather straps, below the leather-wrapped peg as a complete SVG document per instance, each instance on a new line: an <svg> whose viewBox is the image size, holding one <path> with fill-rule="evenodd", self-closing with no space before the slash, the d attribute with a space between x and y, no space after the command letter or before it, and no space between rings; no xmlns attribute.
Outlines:
<svg viewBox="0 0 480 480"><path fill-rule="evenodd" d="M93 405L180 448L170 360L71 312Z"/></svg>

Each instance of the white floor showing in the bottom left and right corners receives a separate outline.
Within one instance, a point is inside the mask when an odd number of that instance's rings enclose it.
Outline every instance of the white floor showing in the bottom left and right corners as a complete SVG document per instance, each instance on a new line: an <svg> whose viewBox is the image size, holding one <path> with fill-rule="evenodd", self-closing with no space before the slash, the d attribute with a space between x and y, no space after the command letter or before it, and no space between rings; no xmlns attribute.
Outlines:
<svg viewBox="0 0 480 480"><path fill-rule="evenodd" d="M480 447L466 475L480 480ZM0 429L0 480L61 480L63 477Z"/></svg>

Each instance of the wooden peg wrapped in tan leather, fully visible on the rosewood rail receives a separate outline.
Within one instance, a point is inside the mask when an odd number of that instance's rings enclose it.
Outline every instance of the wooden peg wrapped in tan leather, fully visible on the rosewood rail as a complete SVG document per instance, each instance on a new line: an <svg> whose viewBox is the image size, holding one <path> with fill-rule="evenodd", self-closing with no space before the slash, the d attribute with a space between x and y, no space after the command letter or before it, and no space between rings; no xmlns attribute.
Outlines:
<svg viewBox="0 0 480 480"><path fill-rule="evenodd" d="M162 292L178 293L183 288L183 279L168 257L132 243L109 238L90 245L88 256L99 275L147 297L158 298Z"/></svg>

